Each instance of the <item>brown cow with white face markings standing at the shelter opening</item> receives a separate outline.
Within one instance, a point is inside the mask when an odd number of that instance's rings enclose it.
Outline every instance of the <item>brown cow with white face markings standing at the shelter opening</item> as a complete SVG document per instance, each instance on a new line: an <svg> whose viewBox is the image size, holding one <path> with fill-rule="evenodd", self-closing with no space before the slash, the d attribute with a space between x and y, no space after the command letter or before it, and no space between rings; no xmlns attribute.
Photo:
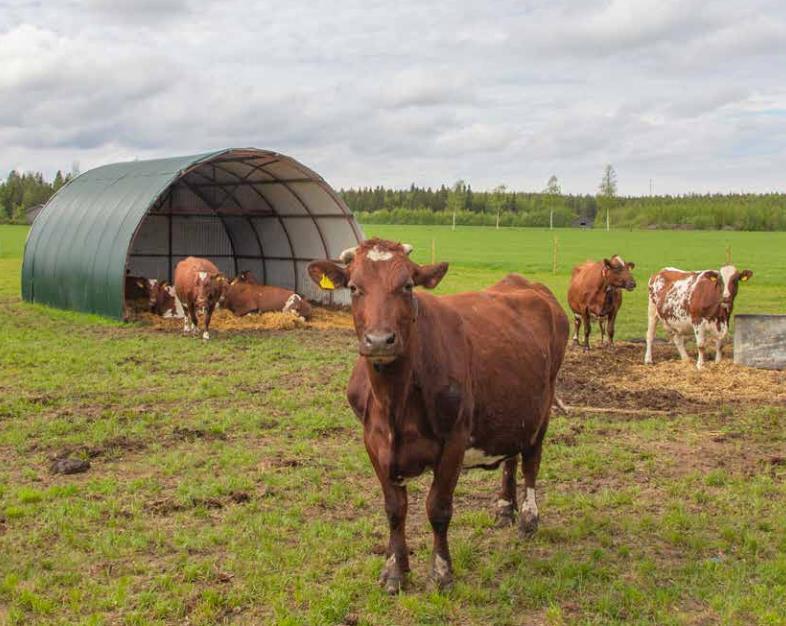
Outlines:
<svg viewBox="0 0 786 626"><path fill-rule="evenodd" d="M202 339L210 339L210 318L224 298L229 281L207 259L190 256L175 267L175 295L185 313L183 332L198 332L201 312L205 317Z"/></svg>

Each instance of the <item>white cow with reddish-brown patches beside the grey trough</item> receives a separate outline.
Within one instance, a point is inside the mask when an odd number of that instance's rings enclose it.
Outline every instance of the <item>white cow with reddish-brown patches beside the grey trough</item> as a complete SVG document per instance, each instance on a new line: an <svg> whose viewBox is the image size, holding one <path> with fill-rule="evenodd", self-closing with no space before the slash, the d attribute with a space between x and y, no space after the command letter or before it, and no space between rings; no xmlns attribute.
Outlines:
<svg viewBox="0 0 786 626"><path fill-rule="evenodd" d="M661 321L683 361L690 358L685 350L685 337L694 335L699 352L696 367L701 369L704 365L707 339L714 341L715 362L719 363L721 344L729 331L739 282L751 276L753 272L750 270L740 272L733 265L724 265L720 271L702 272L667 267L653 274L649 282L649 323L644 362L652 363L652 342L658 321Z"/></svg>

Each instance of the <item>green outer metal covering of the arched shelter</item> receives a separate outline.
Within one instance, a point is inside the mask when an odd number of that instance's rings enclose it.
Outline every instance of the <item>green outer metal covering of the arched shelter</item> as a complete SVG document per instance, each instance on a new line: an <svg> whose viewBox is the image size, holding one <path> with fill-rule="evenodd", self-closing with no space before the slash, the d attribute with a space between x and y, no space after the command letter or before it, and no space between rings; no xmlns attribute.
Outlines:
<svg viewBox="0 0 786 626"><path fill-rule="evenodd" d="M30 229L22 297L122 318L126 255L140 221L185 169L225 152L114 163L70 181Z"/></svg>

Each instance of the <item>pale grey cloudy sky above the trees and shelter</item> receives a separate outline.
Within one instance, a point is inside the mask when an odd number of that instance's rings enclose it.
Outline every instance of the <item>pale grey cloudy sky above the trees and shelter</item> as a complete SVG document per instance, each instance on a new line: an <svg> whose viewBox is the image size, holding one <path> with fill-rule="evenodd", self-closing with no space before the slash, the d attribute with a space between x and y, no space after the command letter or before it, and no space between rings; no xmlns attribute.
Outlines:
<svg viewBox="0 0 786 626"><path fill-rule="evenodd" d="M334 186L786 190L781 0L0 0L0 175L255 146Z"/></svg>

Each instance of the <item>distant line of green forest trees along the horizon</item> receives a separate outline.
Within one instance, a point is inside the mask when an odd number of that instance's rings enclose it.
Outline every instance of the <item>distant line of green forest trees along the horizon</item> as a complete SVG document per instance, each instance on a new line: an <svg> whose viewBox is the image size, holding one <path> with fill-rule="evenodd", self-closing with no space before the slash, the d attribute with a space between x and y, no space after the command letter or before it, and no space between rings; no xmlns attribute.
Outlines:
<svg viewBox="0 0 786 626"><path fill-rule="evenodd" d="M50 182L39 172L12 171L0 182L0 223L24 224L27 210L49 200L73 175L58 171ZM786 230L786 194L618 196L611 165L594 195L564 194L556 176L537 192L504 185L476 191L460 180L436 188L359 187L339 194L366 224Z"/></svg>

